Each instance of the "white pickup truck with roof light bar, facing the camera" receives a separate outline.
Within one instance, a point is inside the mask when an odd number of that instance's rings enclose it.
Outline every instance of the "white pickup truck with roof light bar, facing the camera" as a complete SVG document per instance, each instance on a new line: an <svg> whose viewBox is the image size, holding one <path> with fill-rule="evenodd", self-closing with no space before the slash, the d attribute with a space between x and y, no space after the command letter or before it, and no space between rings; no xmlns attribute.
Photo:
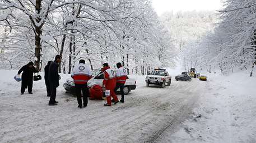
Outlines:
<svg viewBox="0 0 256 143"><path fill-rule="evenodd" d="M165 69L155 69L145 79L146 85L160 85L162 88L171 85L171 76Z"/></svg>

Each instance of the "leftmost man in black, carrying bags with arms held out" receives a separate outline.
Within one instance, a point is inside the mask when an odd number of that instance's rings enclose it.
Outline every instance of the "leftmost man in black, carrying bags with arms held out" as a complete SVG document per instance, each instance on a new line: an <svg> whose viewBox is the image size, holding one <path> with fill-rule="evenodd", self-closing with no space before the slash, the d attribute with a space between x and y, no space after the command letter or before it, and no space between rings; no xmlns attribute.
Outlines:
<svg viewBox="0 0 256 143"><path fill-rule="evenodd" d="M29 93L32 94L32 86L33 86L33 73L34 72L39 72L35 69L34 67L34 63L33 62L29 62L27 63L27 65L23 66L19 71L18 71L18 75L20 75L22 73L21 76L21 95L24 94L25 89L27 87L29 90Z"/></svg>

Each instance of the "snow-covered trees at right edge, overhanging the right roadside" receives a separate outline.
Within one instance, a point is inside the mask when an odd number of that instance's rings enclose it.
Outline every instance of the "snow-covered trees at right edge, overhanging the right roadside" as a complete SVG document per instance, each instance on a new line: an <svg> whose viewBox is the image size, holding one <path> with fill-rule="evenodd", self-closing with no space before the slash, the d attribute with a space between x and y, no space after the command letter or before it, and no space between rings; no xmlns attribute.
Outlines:
<svg viewBox="0 0 256 143"><path fill-rule="evenodd" d="M196 46L198 67L220 69L229 73L239 68L247 70L255 65L255 1L227 0L220 10L220 22ZM196 42L194 42L196 43ZM188 52L187 55L196 55ZM192 57L190 58L190 60Z"/></svg>

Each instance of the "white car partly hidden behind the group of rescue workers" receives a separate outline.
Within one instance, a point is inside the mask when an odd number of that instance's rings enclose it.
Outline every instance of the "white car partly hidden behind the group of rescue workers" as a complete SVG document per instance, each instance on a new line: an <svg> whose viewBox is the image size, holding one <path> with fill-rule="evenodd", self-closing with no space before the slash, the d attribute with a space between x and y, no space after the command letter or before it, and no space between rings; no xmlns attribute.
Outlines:
<svg viewBox="0 0 256 143"><path fill-rule="evenodd" d="M97 85L103 86L103 80L104 80L104 75L103 72L100 70L94 70L92 71L92 78L88 81L88 85L91 82L95 82ZM64 88L67 91L67 93L75 93L75 83L73 82L72 78L68 78L67 81L64 83ZM132 78L129 78L126 80L124 84L124 94L127 95L131 90L136 89L136 81ZM120 91L120 89L118 89ZM104 89L105 92L105 89Z"/></svg>

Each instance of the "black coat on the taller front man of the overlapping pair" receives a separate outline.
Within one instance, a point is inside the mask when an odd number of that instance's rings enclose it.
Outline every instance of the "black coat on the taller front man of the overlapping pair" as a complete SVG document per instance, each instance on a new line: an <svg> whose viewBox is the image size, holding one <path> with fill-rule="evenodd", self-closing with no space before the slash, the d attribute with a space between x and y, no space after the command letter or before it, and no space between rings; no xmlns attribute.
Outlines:
<svg viewBox="0 0 256 143"><path fill-rule="evenodd" d="M48 80L50 84L54 87L59 86L59 72L58 72L58 63L56 61L52 62L49 67L49 72L48 72Z"/></svg>

